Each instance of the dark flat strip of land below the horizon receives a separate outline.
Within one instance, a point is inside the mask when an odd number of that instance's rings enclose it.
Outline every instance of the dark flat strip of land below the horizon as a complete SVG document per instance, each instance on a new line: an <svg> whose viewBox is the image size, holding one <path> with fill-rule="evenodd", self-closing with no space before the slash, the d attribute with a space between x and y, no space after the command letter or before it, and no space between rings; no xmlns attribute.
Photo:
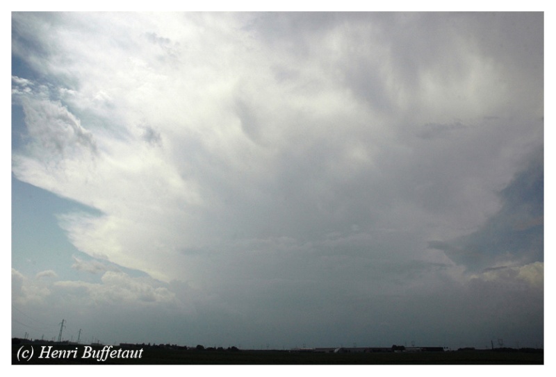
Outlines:
<svg viewBox="0 0 556 377"><path fill-rule="evenodd" d="M29 346L26 345L27 349ZM12 345L13 365L543 365L539 349L503 349L445 352L318 353L299 351L207 351L145 347L140 358L83 358L83 345L55 345L52 350L73 351L65 358L38 358L42 346L33 345L34 357L25 358L22 344ZM102 346L92 346L101 350ZM115 346L114 349L118 349ZM89 348L90 349L90 348ZM30 349L29 349L30 350ZM75 357L74 357L75 355ZM137 353L136 353L137 355ZM68 356L66 353L65 356ZM18 359L19 358L19 359Z"/></svg>

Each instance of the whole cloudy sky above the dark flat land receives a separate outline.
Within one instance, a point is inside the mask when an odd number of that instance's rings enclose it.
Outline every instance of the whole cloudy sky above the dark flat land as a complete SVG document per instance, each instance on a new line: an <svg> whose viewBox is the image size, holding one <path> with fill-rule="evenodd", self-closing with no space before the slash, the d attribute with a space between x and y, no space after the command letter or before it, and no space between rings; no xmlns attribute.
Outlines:
<svg viewBox="0 0 556 377"><path fill-rule="evenodd" d="M542 347L543 28L13 12L12 336Z"/></svg>

